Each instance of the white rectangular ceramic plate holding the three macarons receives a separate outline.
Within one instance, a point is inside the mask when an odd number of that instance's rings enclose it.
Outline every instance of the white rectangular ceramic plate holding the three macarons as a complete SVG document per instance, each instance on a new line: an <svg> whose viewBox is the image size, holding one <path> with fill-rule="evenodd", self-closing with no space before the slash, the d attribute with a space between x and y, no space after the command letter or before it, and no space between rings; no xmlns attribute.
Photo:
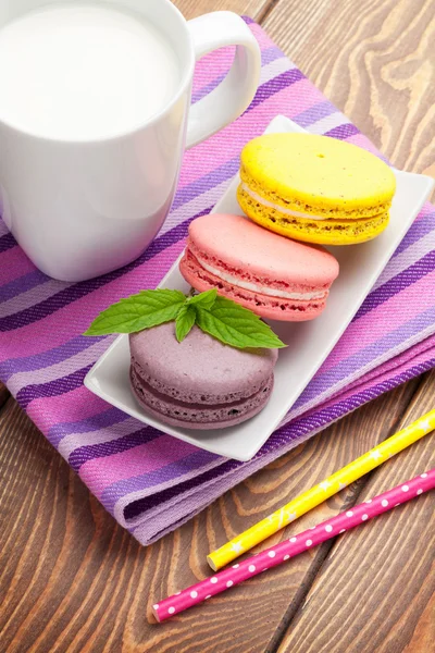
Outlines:
<svg viewBox="0 0 435 653"><path fill-rule="evenodd" d="M268 132L303 131L282 115L275 118L268 127ZM397 193L385 232L363 245L330 248L338 259L340 274L332 287L326 309L321 317L311 322L271 322L288 347L279 352L275 387L271 401L259 415L234 428L213 431L172 428L147 415L129 389L129 348L126 335L120 336L90 370L85 379L86 387L124 412L179 440L227 458L252 458L328 356L431 193L433 181L430 177L394 172ZM243 214L236 199L237 185L238 177L233 181L213 212ZM186 293L189 291L178 271L178 261L160 287Z"/></svg>

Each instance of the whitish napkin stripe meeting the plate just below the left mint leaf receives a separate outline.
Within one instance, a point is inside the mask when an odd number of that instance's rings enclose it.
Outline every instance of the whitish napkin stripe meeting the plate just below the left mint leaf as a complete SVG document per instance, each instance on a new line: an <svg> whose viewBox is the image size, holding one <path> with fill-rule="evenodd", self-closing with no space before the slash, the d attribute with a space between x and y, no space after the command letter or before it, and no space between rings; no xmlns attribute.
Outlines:
<svg viewBox="0 0 435 653"><path fill-rule="evenodd" d="M84 352L79 352L78 354L75 354L75 356L67 358L66 360L61 360L61 362L57 362L50 367L41 368L39 370L29 370L27 372L17 372L9 379L9 390L13 394L16 394L26 385L48 383L50 381L55 381L55 379L67 377L95 362L107 350L108 346L111 344L111 340L114 340L115 337L116 336L104 338L101 342L95 343Z"/></svg>

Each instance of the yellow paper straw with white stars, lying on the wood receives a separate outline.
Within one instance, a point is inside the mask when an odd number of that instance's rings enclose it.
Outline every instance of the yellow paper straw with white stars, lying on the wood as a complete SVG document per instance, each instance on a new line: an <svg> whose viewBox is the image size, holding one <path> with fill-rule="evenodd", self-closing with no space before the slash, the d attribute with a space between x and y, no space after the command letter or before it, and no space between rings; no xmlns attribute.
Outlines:
<svg viewBox="0 0 435 653"><path fill-rule="evenodd" d="M360 479L388 458L391 458L391 456L395 456L421 438L424 438L424 435L427 435L434 429L435 410L431 410L406 429L398 431L395 435L391 435L385 442L363 454L360 458L357 458L318 485L314 485L311 490L299 494L299 496L290 501L283 508L259 521L234 540L231 540L231 542L221 546L221 549L210 553L207 556L207 562L214 571L217 571L217 569L236 559L239 555L256 546L256 544L263 542L291 521L295 521L295 519L298 519L298 517L319 506L326 498L346 488L346 485Z"/></svg>

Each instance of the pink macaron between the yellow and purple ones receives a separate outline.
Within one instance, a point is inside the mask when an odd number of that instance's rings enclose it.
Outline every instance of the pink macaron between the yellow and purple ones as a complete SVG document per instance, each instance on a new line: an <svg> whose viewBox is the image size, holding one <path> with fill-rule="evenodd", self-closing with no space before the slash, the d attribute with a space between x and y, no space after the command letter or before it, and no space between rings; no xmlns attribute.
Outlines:
<svg viewBox="0 0 435 653"><path fill-rule="evenodd" d="M190 224L179 269L197 291L215 287L262 318L289 322L312 320L324 310L339 271L323 247L219 213Z"/></svg>

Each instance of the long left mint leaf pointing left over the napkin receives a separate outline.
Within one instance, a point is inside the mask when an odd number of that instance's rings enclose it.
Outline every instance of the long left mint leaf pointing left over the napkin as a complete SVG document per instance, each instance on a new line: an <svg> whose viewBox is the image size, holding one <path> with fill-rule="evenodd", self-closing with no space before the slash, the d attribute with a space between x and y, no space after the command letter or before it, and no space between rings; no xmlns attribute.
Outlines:
<svg viewBox="0 0 435 653"><path fill-rule="evenodd" d="M102 311L85 335L135 333L175 320L186 297L179 291L141 291Z"/></svg>

